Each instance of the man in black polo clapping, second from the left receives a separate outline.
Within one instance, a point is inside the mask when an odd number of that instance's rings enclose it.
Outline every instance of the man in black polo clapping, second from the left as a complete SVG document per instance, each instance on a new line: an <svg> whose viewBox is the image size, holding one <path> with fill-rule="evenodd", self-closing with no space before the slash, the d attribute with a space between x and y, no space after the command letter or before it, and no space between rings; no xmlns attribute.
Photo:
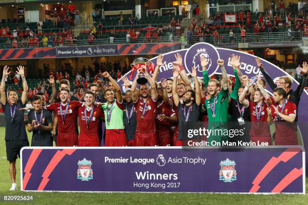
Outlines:
<svg viewBox="0 0 308 205"><path fill-rule="evenodd" d="M28 132L33 131L31 146L52 147L51 131L53 123L51 113L42 109L42 99L34 95L31 99L34 111L28 114Z"/></svg>

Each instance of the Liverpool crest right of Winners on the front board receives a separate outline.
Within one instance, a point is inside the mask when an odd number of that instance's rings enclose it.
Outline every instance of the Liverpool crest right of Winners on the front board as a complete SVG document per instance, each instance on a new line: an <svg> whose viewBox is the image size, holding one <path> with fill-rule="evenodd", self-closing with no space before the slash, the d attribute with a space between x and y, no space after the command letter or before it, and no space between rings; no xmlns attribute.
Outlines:
<svg viewBox="0 0 308 205"><path fill-rule="evenodd" d="M220 161L219 180L223 182L233 182L237 180L237 172L235 170L235 161L231 161L228 158L224 161Z"/></svg>

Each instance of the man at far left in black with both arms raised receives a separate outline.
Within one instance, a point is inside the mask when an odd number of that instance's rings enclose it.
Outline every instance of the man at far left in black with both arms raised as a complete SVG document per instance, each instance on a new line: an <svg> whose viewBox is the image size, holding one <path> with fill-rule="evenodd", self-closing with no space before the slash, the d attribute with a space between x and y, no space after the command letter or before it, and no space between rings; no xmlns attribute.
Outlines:
<svg viewBox="0 0 308 205"><path fill-rule="evenodd" d="M2 81L0 85L0 95L3 111L6 119L6 150L7 159L10 162L9 172L12 180L10 190L16 190L16 159L20 157L22 147L29 146L29 141L24 124L24 111L19 111L26 107L28 85L25 77L24 67L17 67L17 74L20 74L23 81L23 93L21 100L18 99L17 91L12 89L8 93L8 101L5 93L5 79L9 75L9 67L5 66L3 70Z"/></svg>

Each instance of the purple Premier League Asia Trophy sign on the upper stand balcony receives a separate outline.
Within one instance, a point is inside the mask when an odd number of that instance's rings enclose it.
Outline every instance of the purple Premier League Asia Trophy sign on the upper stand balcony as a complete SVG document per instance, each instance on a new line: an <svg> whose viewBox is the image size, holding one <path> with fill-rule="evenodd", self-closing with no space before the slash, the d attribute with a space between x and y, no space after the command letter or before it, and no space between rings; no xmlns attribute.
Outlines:
<svg viewBox="0 0 308 205"><path fill-rule="evenodd" d="M86 57L86 56L106 56L117 55L117 45L108 46L82 46L82 47L58 47L56 57Z"/></svg>

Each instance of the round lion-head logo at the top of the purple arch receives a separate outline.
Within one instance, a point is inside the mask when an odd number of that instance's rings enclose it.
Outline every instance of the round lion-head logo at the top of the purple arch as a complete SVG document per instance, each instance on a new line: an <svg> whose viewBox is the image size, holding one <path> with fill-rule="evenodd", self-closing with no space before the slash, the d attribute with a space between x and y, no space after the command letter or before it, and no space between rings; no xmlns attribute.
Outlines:
<svg viewBox="0 0 308 205"><path fill-rule="evenodd" d="M190 73L191 68L195 66L198 71L197 76L203 77L200 56L205 57L209 61L206 70L209 76L213 75L218 69L216 62L219 59L219 54L215 47L208 43L197 43L187 50L184 58L187 71Z"/></svg>

